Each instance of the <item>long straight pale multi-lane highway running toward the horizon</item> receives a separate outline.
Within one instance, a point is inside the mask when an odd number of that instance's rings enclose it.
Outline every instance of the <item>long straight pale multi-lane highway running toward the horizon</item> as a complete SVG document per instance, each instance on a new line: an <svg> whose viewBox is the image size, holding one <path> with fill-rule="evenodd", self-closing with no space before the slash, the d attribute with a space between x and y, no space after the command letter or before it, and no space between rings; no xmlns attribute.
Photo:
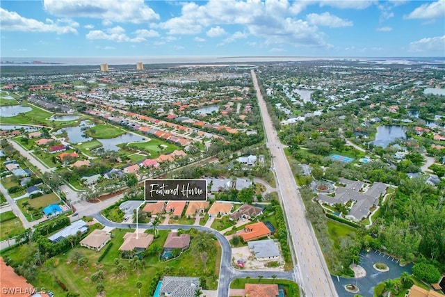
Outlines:
<svg viewBox="0 0 445 297"><path fill-rule="evenodd" d="M298 284L300 284L306 296L338 296L312 225L305 217L305 205L300 197L283 146L277 137L277 131L275 131L268 114L266 102L259 89L257 76L254 70L251 70L251 72L264 122L266 145L268 145L270 153L273 155L272 161L277 189L282 200L282 207L293 243L291 244L291 252L293 257L297 259L294 271Z"/></svg>

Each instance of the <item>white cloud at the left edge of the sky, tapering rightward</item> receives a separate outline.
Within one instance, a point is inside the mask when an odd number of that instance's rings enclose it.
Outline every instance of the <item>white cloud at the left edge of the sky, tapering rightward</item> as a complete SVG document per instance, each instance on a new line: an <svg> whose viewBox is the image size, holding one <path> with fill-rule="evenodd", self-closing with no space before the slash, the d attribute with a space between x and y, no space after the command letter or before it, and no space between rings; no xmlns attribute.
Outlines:
<svg viewBox="0 0 445 297"><path fill-rule="evenodd" d="M71 19L46 19L47 24L39 22L36 19L22 17L14 11L8 11L0 8L0 26L3 31L22 31L22 32L55 32L57 34L77 33L78 23Z"/></svg>

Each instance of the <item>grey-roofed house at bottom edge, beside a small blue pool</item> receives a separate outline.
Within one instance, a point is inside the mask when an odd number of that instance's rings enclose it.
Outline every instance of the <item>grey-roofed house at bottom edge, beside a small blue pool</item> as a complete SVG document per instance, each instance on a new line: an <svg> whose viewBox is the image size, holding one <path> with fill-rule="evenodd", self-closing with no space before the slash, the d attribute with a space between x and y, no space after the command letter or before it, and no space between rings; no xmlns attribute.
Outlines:
<svg viewBox="0 0 445 297"><path fill-rule="evenodd" d="M159 296L195 297L195 291L200 287L199 278L181 276L164 276Z"/></svg>

